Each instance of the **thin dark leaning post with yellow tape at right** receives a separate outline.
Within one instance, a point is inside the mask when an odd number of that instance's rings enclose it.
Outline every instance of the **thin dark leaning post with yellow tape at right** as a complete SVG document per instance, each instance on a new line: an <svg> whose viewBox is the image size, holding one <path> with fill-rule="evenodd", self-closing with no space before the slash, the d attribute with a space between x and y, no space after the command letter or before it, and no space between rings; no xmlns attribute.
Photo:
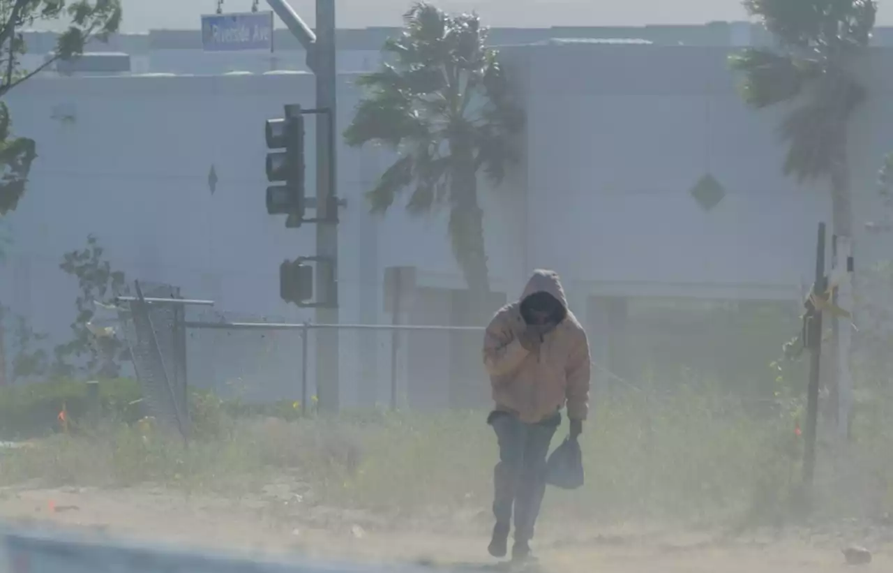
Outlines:
<svg viewBox="0 0 893 573"><path fill-rule="evenodd" d="M824 296L825 291L825 223L819 223L819 236L815 247L815 282L813 294ZM813 316L806 325L807 344L809 344L809 386L806 389L806 443L803 456L803 483L806 487L813 485L815 476L815 437L819 409L819 370L822 363L822 311L813 308Z"/></svg>

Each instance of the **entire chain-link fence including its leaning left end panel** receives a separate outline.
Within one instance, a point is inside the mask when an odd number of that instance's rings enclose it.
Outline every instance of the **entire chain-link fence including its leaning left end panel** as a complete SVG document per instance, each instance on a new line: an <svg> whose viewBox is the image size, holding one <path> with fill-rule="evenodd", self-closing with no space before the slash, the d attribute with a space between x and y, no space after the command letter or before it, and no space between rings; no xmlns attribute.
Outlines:
<svg viewBox="0 0 893 573"><path fill-rule="evenodd" d="M319 333L335 330L344 409L476 408L488 403L483 329L420 324L288 323L224 313L167 284L118 297L121 334L146 415L188 429L188 388L248 404L316 405Z"/></svg>

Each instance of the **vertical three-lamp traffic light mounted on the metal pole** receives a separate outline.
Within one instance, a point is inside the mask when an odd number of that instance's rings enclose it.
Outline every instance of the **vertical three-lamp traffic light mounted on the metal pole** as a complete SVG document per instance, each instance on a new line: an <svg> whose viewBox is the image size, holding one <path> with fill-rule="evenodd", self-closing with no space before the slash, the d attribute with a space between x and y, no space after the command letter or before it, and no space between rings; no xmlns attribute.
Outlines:
<svg viewBox="0 0 893 573"><path fill-rule="evenodd" d="M299 227L305 213L304 116L299 106L287 117L266 122L267 213L288 215L287 227Z"/></svg>

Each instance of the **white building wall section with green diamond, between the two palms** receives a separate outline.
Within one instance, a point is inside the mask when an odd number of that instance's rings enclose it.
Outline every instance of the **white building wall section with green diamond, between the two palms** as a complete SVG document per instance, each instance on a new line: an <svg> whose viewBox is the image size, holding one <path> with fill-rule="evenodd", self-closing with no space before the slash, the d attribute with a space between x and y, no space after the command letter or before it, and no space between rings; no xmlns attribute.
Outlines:
<svg viewBox="0 0 893 573"><path fill-rule="evenodd" d="M799 296L812 282L816 224L830 221L827 184L780 173L784 110L747 109L727 55L683 46L513 50L515 68L527 70L530 109L528 266L552 265L573 291L602 295ZM875 50L871 61L872 103L851 133L851 155L871 157L859 169L868 179L889 117L889 80L874 71L889 55ZM707 173L726 191L710 211L689 193Z"/></svg>

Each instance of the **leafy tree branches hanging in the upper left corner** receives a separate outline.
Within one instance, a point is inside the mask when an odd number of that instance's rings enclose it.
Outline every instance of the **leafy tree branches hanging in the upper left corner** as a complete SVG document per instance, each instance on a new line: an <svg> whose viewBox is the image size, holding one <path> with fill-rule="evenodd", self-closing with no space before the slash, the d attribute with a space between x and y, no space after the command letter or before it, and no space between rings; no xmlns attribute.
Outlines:
<svg viewBox="0 0 893 573"><path fill-rule="evenodd" d="M21 56L28 49L22 32L38 21L64 21L68 29L59 35L53 55L22 69ZM34 140L13 134L4 97L57 60L83 54L91 39L105 40L120 24L121 0L0 0L0 216L18 205L37 157Z"/></svg>

